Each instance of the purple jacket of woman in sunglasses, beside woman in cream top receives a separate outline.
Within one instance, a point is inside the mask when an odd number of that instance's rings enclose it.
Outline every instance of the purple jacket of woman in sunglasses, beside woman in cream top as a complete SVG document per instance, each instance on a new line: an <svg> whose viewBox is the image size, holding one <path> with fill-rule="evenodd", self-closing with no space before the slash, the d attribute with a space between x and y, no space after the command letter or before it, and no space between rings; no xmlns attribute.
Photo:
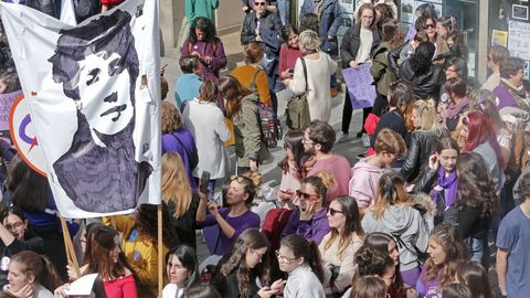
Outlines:
<svg viewBox="0 0 530 298"><path fill-rule="evenodd" d="M282 233L282 237L290 234L297 234L308 241L320 244L324 236L329 232L329 223L326 214L328 209L322 207L309 221L300 221L300 209L297 207L290 213L289 221Z"/></svg>

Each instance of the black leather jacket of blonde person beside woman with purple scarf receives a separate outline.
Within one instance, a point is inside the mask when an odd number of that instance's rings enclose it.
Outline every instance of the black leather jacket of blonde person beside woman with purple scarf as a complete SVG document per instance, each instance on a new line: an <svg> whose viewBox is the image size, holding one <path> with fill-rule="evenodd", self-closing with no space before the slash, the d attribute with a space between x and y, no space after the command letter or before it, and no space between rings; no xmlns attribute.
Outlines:
<svg viewBox="0 0 530 298"><path fill-rule="evenodd" d="M411 134L406 159L400 170L401 175L407 181L414 181L420 172L428 168L428 157L434 152L434 147L443 137L449 134L444 130L417 130Z"/></svg>

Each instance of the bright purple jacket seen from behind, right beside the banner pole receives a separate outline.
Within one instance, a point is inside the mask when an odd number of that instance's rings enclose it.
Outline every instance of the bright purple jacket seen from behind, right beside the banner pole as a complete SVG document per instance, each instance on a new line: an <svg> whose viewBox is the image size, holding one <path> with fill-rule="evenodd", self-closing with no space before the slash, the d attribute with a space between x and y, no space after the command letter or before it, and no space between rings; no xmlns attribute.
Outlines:
<svg viewBox="0 0 530 298"><path fill-rule="evenodd" d="M162 155L170 151L180 155L186 167L190 187L197 190L197 183L191 173L199 163L199 156L195 139L190 130L182 128L171 134L162 135Z"/></svg>

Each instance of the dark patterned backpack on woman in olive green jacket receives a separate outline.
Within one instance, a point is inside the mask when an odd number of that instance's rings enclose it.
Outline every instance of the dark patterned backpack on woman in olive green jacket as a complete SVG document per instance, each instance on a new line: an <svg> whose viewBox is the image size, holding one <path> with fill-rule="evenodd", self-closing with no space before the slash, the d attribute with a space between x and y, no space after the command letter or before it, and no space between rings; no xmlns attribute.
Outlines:
<svg viewBox="0 0 530 298"><path fill-rule="evenodd" d="M262 70L257 70L254 73L250 88L255 91L256 76ZM282 139L282 124L276 117L276 113L272 107L257 102L257 123L259 124L259 131L262 134L262 140L267 148L276 148L278 140Z"/></svg>

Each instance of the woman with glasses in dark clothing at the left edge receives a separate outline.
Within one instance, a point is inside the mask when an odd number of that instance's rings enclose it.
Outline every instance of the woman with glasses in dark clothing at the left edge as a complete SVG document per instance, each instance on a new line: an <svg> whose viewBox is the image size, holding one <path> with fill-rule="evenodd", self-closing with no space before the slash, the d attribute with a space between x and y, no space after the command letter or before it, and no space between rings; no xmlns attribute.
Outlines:
<svg viewBox="0 0 530 298"><path fill-rule="evenodd" d="M12 255L22 251L43 253L44 242L41 237L29 230L28 220L24 213L12 207L8 210L0 205L0 288L8 284L8 266Z"/></svg>

